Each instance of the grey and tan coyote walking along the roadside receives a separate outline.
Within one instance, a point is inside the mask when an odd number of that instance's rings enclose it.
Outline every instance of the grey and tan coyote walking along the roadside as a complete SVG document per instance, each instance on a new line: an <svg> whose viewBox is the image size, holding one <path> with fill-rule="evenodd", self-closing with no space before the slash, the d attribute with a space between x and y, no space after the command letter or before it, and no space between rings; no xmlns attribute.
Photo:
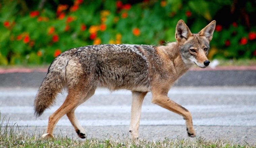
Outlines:
<svg viewBox="0 0 256 148"><path fill-rule="evenodd" d="M40 116L55 101L64 88L68 94L64 103L50 117L46 134L53 137L55 125L67 115L80 138L86 138L83 127L75 117L78 105L89 99L99 87L111 91L128 89L132 92L129 132L138 139L139 120L143 98L152 93L152 102L183 116L188 136L194 137L192 116L167 93L170 87L188 69L196 64L209 65L207 59L216 21L200 32L191 33L183 20L175 30L176 42L165 46L108 44L73 48L61 53L50 65L34 101L35 115Z"/></svg>

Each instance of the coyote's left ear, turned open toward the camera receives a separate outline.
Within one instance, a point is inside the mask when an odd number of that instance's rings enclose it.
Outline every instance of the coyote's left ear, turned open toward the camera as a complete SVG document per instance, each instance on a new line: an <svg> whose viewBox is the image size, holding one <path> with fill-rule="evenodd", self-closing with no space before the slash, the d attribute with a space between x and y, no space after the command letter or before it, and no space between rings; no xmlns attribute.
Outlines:
<svg viewBox="0 0 256 148"><path fill-rule="evenodd" d="M183 20L179 20L176 26L175 39L178 41L181 41L184 38L188 40L188 37L192 35L193 34L189 30L185 22Z"/></svg>

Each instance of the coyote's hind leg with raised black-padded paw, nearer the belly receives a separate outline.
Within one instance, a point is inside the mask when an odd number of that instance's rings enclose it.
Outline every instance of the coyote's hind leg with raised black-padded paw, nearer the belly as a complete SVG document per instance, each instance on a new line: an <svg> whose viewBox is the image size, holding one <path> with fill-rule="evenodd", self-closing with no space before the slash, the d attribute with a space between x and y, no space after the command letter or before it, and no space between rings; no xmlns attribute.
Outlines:
<svg viewBox="0 0 256 148"><path fill-rule="evenodd" d="M77 106L79 106L80 104L82 104L82 103L84 103L86 100L88 100L88 99L94 94L95 89L96 89L96 87L92 88L92 89L87 93L87 95L85 96L85 98L84 98ZM76 106L76 107L77 107L77 106ZM74 127L74 129L75 129L77 135L78 135L80 138L84 139L84 138L86 138L85 130L84 130L84 128L81 126L81 124L78 122L78 120L77 120L77 118L75 117L75 114L74 114L76 107L75 107L73 110L71 110L71 112L67 113L67 117L68 117L69 121L71 122L71 124L73 125L73 127Z"/></svg>

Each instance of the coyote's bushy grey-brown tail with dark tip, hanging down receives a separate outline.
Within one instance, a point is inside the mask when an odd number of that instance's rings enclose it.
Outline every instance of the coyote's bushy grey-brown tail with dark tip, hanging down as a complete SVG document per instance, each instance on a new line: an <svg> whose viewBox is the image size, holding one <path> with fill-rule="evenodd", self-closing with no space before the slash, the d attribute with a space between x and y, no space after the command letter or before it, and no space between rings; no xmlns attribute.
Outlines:
<svg viewBox="0 0 256 148"><path fill-rule="evenodd" d="M65 69L67 63L67 59L57 57L49 67L35 97L34 114L36 117L42 115L46 108L53 105L57 94L65 87Z"/></svg>

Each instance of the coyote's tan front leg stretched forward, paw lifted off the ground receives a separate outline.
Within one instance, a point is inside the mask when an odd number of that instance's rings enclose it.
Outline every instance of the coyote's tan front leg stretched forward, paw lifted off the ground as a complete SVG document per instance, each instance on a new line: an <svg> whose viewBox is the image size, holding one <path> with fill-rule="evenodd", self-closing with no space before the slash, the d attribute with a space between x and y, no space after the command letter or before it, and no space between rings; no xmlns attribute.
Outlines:
<svg viewBox="0 0 256 148"><path fill-rule="evenodd" d="M175 103L172 101L168 96L167 93L166 95L163 95L163 93L159 92L152 92L153 98L152 98L152 103L158 104L162 106L163 108L166 108L174 113L177 113L181 116L183 116L183 119L186 120L186 126L187 126L187 132L188 136L190 137L195 137L195 130L193 127L192 123L192 116L191 113L181 105Z"/></svg>

